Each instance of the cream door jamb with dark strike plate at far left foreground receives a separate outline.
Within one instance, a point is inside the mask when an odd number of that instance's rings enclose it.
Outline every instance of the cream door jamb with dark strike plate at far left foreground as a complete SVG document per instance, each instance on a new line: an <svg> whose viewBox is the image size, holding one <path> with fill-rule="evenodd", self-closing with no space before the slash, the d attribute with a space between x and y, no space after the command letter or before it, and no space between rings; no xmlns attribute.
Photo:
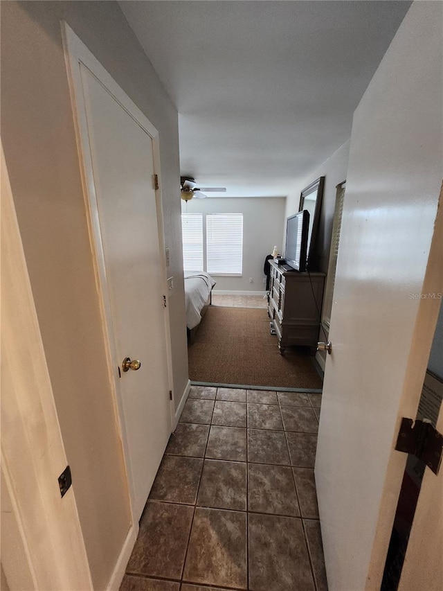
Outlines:
<svg viewBox="0 0 443 591"><path fill-rule="evenodd" d="M1 280L1 564L11 588L92 591L3 147Z"/></svg>

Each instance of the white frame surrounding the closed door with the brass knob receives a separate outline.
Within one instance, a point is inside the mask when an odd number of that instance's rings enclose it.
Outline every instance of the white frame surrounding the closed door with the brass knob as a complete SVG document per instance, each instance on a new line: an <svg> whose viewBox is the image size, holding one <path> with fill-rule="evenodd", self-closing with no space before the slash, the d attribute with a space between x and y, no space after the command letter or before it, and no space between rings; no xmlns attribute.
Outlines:
<svg viewBox="0 0 443 591"><path fill-rule="evenodd" d="M66 70L68 72L69 90L71 94L71 105L73 108L73 120L75 125L75 136L77 139L78 156L80 162L80 171L82 175L83 194L85 201L85 209L87 212L87 221L89 229L89 239L91 241L91 249L93 253L93 263L96 275L96 284L99 294L100 311L102 315L102 327L105 336L105 349L107 356L107 365L109 372L109 382L111 385L112 398L114 402L114 411L116 414L116 423L118 427L118 434L123 446L123 459L125 463L125 472L127 483L129 487L129 500L132 513L132 522L134 527L137 525L138 518L134 515L134 501L133 491L134 483L132 480L132 471L129 447L127 444L127 430L125 425L125 418L123 412L122 393L120 389L120 378L118 376L118 367L115 360L116 355L116 339L114 332L114 323L111 312L111 300L109 297L109 284L107 281L107 272L105 265L105 254L102 247L102 234L100 231L100 219L98 215L98 202L96 196L96 187L93 177L93 166L91 158L91 150L89 148L89 134L87 123L86 105L84 103L82 78L80 73L80 64L86 67L98 80L98 82L113 96L127 114L139 125L150 138L152 139L152 148L154 155L154 173L158 179L160 175L160 151L159 151L159 132L154 125L141 112L136 104L127 96L125 91L117 84L117 82L110 76L107 70L98 62L96 57L89 51L82 40L74 33L71 27L62 21L62 37L64 46L64 57L66 61ZM154 182L154 179L153 179ZM161 198L161 182L159 188L156 188L156 211L157 211L157 227L159 231L159 254L163 283L163 294L168 301L168 282L166 275L166 256L165 256L165 240L163 233L163 207ZM170 318L169 309L165 308L164 314L165 323L165 342L166 342L166 364L168 369L168 385L170 391L173 390L172 384L172 352L170 341ZM165 392L165 396L168 392ZM173 398L173 397L172 397ZM170 431L174 425L174 405L173 401L169 401L170 405ZM129 556L128 556L129 558Z"/></svg>

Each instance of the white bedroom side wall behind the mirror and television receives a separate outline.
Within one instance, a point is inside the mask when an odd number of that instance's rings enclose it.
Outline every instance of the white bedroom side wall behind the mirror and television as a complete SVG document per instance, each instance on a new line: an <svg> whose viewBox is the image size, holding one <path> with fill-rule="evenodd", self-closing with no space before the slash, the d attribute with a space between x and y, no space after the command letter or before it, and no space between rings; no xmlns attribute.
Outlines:
<svg viewBox="0 0 443 591"><path fill-rule="evenodd" d="M323 203L320 211L320 223L318 224L316 248L314 250L314 265L316 270L327 273L327 264L329 262L329 249L331 247L332 221L334 219L336 186L346 180L347 159L349 158L350 141L343 145L332 154L323 164L318 166L309 175L294 186L291 194L286 200L285 218L298 212L300 204L300 193L302 190L314 182L318 177L325 177L325 187L323 189Z"/></svg>

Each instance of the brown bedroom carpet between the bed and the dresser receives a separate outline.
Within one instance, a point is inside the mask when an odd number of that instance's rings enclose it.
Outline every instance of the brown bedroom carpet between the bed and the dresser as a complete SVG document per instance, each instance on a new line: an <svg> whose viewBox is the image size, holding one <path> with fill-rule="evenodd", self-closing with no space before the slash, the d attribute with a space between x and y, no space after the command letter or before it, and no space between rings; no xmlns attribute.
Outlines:
<svg viewBox="0 0 443 591"><path fill-rule="evenodd" d="M321 388L309 349L284 357L266 310L210 306L188 348L190 380L266 387Z"/></svg>

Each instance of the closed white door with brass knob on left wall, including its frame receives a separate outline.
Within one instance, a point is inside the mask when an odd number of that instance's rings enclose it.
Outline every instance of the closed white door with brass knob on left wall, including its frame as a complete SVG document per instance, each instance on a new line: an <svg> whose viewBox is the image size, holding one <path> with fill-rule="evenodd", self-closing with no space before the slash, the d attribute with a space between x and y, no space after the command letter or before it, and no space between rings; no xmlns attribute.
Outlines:
<svg viewBox="0 0 443 591"><path fill-rule="evenodd" d="M132 509L138 520L171 431L161 205L154 187L155 130L80 39L75 35L72 39L82 51L75 62L75 100L111 373L119 398ZM138 371L122 371L127 357L141 362Z"/></svg>

